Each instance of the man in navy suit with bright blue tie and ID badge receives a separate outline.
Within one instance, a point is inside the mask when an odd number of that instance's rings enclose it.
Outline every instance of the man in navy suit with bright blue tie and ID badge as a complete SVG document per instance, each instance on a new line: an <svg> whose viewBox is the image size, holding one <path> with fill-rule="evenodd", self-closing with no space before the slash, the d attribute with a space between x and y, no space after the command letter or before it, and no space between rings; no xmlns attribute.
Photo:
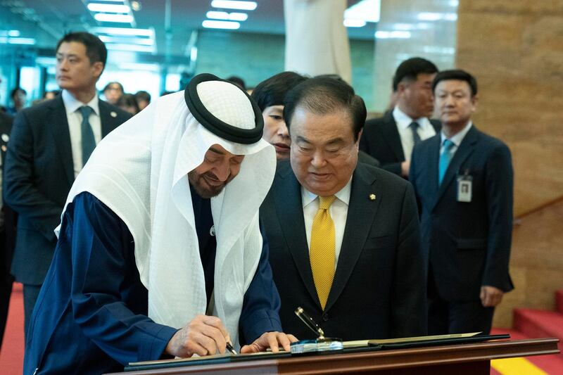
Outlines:
<svg viewBox="0 0 563 375"><path fill-rule="evenodd" d="M429 333L489 332L513 288L510 150L473 125L472 75L445 70L432 86L442 131L415 147L410 165L429 257Z"/></svg>

